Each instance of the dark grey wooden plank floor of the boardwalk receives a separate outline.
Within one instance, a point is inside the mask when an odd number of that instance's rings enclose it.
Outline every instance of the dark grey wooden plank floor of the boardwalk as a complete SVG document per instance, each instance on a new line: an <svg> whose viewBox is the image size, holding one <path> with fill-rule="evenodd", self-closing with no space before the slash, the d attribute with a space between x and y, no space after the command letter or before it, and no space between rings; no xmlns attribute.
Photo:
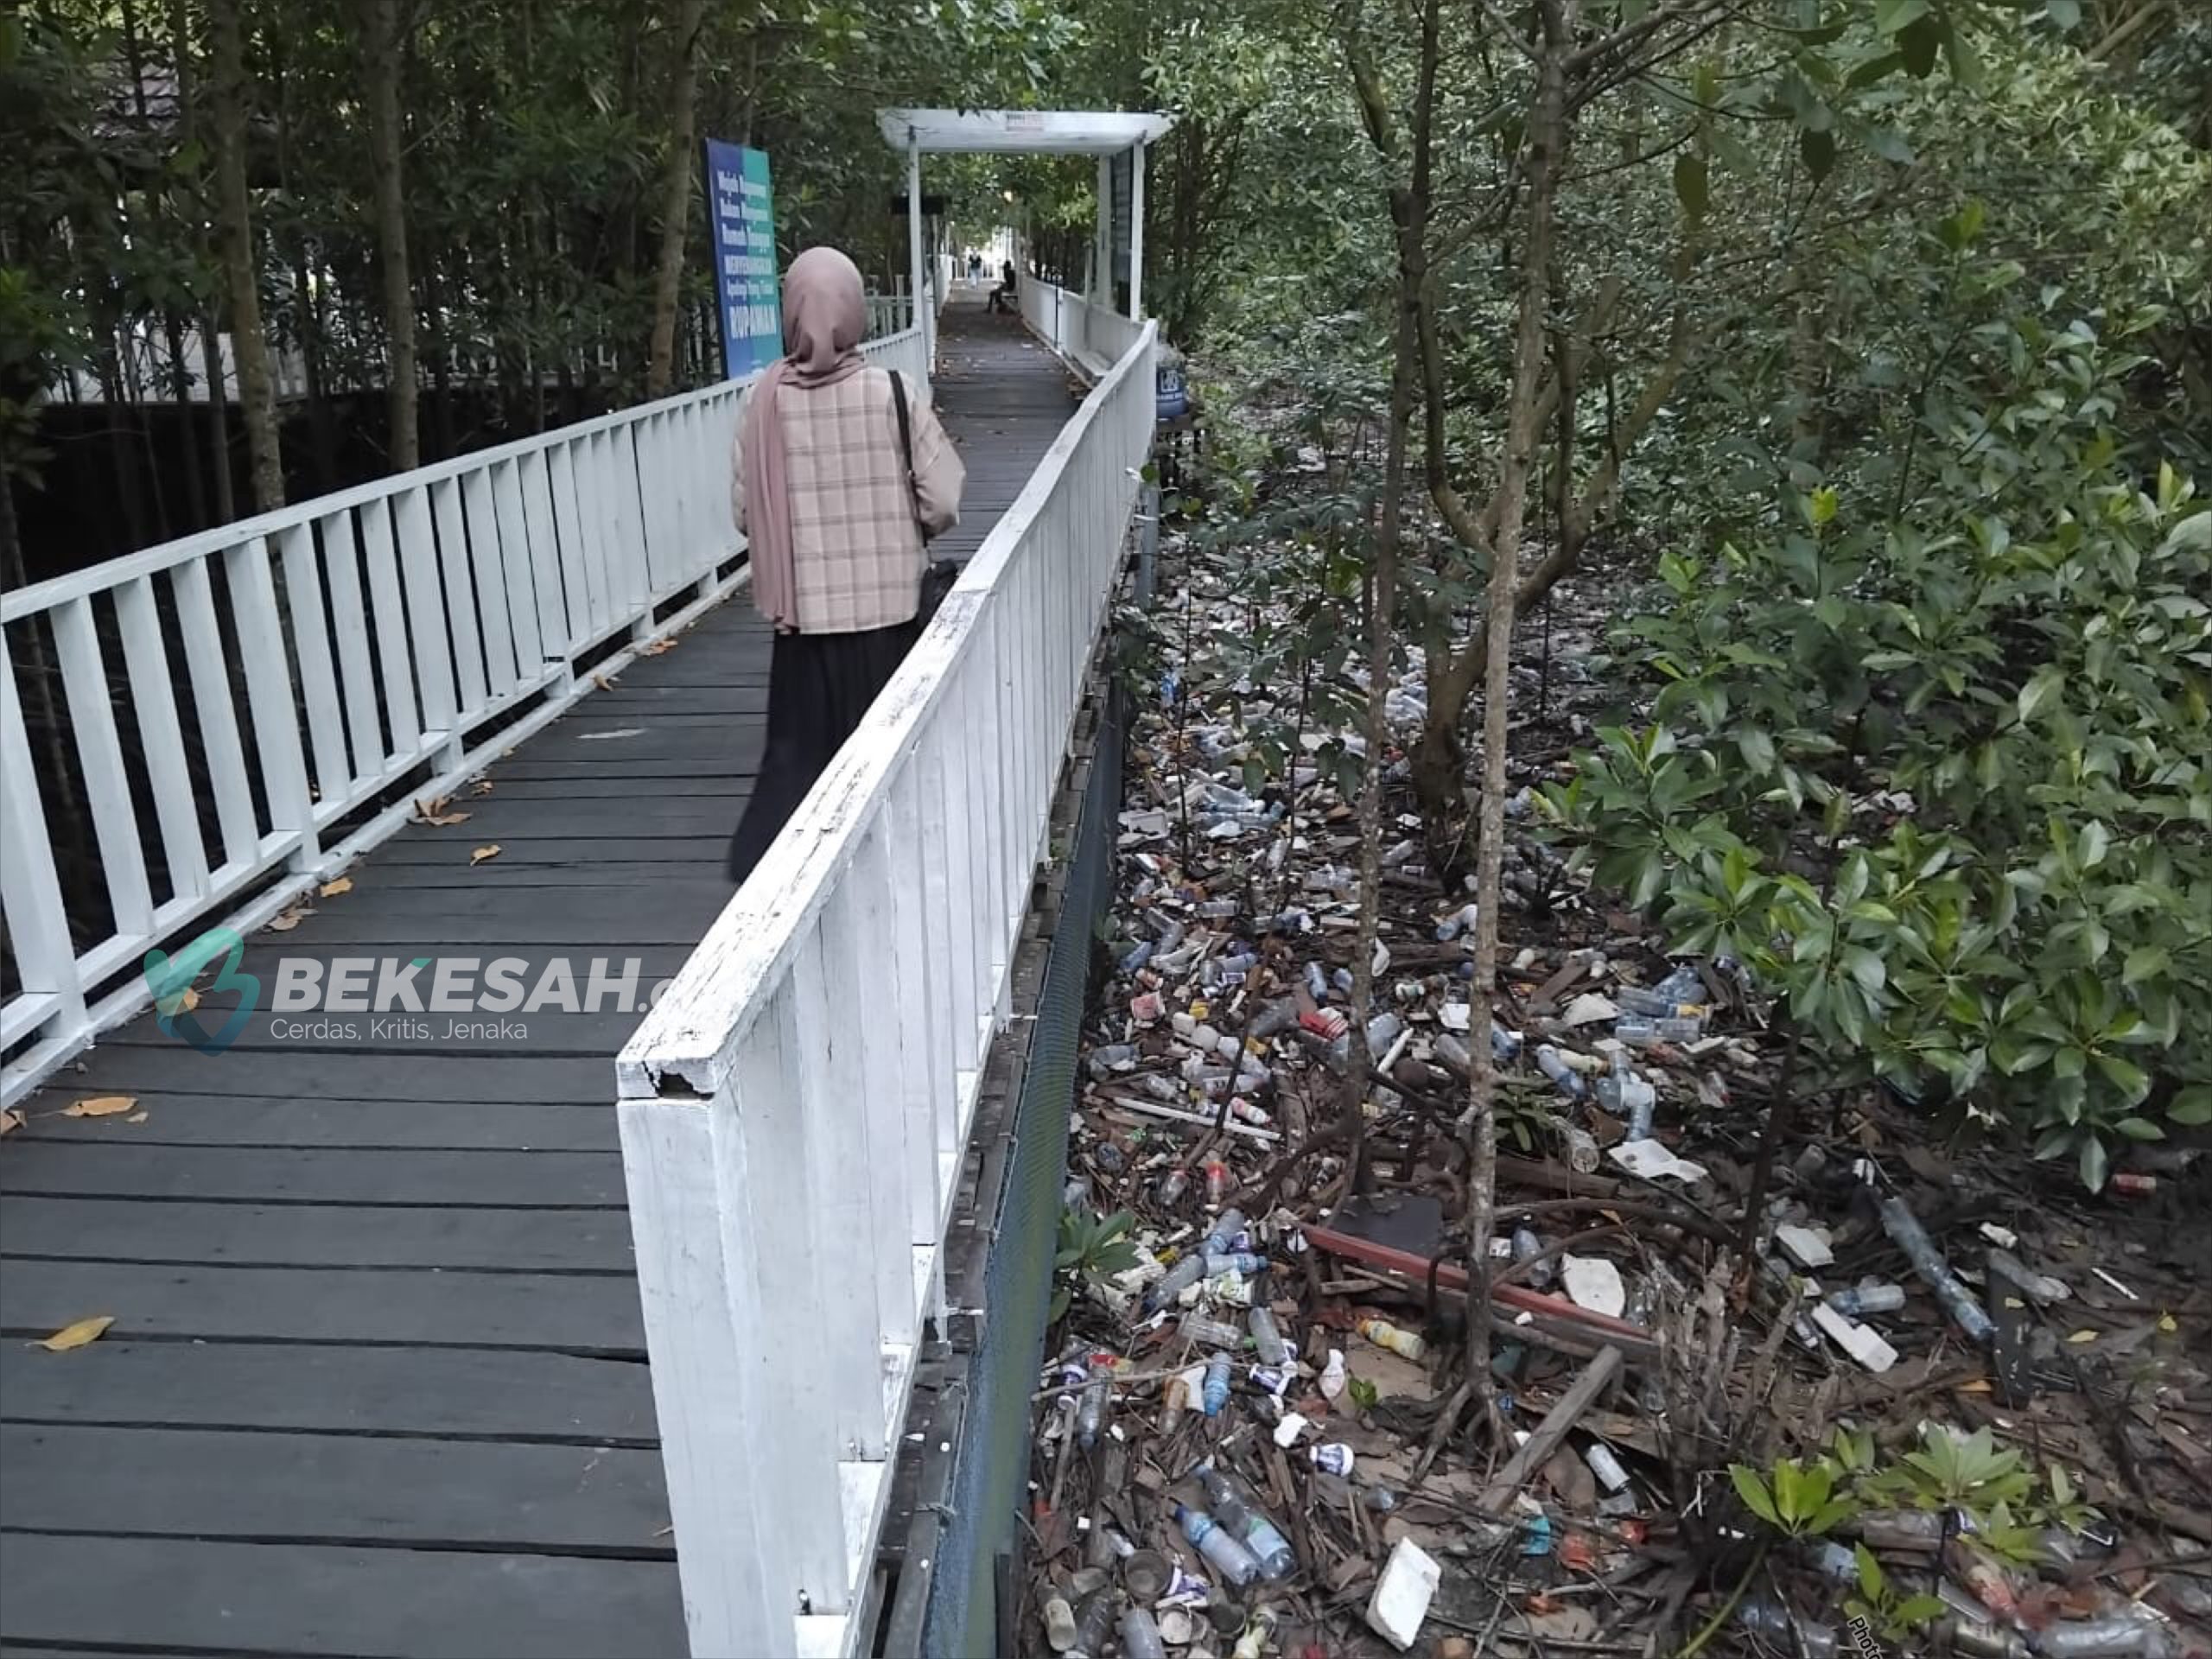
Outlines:
<svg viewBox="0 0 2212 1659"><path fill-rule="evenodd" d="M945 365L967 555L1075 405L973 296ZM248 940L263 1015L228 1053L137 1020L29 1102L0 1148L0 1650L684 1652L611 1106L637 1013L292 1037L265 1004L285 956L668 978L728 898L765 708L768 635L728 604L498 761L467 823ZM137 1104L62 1115L91 1095ZM29 1345L88 1316L115 1321L88 1347Z"/></svg>

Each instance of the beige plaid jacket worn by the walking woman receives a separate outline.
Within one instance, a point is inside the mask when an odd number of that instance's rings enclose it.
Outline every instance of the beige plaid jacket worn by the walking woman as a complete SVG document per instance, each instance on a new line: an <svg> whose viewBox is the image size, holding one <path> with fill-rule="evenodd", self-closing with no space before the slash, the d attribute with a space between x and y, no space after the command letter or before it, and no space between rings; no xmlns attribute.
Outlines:
<svg viewBox="0 0 2212 1659"><path fill-rule="evenodd" d="M920 608L920 515L936 535L960 522L967 467L929 405L907 380L914 482L898 449L891 369L865 367L834 385L785 385L783 453L792 478L792 577L801 633L858 633L907 622ZM748 394L750 396L750 394ZM745 529L745 409L730 449L730 513Z"/></svg>

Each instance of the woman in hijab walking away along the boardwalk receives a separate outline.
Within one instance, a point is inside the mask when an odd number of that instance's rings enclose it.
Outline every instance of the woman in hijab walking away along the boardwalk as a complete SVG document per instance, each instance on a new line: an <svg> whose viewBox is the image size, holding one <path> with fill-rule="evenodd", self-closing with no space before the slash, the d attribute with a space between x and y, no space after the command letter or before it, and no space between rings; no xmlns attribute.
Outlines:
<svg viewBox="0 0 2212 1659"><path fill-rule="evenodd" d="M752 602L776 630L768 754L730 838L739 883L907 655L920 633L922 535L960 520L967 469L929 389L898 376L909 476L894 372L860 356L865 332L858 265L807 248L783 276L785 354L737 422L730 511L748 542Z"/></svg>

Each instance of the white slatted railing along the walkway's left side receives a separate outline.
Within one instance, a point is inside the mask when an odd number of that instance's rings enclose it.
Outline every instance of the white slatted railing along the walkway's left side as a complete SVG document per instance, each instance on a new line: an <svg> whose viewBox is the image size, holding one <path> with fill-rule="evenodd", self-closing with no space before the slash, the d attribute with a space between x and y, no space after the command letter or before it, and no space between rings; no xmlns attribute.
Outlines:
<svg viewBox="0 0 2212 1659"><path fill-rule="evenodd" d="M867 352L925 372L914 330ZM407 796L445 792L588 692L580 659L613 644L593 664L611 672L712 604L743 546L741 392L688 392L0 595L0 907L20 980L0 1002L0 1104L146 1004L150 947L215 920L259 927L398 830ZM53 776L58 745L77 779ZM387 805L394 790L407 796ZM55 856L86 834L108 916L93 938L60 878L75 860Z"/></svg>

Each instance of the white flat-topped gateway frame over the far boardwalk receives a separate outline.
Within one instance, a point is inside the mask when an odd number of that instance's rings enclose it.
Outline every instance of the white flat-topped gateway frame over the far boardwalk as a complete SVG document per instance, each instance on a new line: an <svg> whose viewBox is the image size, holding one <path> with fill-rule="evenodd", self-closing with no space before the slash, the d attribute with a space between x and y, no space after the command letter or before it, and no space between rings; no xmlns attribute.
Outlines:
<svg viewBox="0 0 2212 1659"><path fill-rule="evenodd" d="M1099 164L1099 215L1093 279L1106 288L1113 239L1113 166L1130 157L1128 204L1128 314L1144 321L1144 150L1175 126L1172 115L1144 111L951 111L887 108L876 113L883 139L907 153L907 263L914 292L922 292L922 155L1095 155ZM1108 290L1110 292L1110 290ZM1106 299L1106 292L1099 294ZM931 356L936 319L925 321Z"/></svg>

